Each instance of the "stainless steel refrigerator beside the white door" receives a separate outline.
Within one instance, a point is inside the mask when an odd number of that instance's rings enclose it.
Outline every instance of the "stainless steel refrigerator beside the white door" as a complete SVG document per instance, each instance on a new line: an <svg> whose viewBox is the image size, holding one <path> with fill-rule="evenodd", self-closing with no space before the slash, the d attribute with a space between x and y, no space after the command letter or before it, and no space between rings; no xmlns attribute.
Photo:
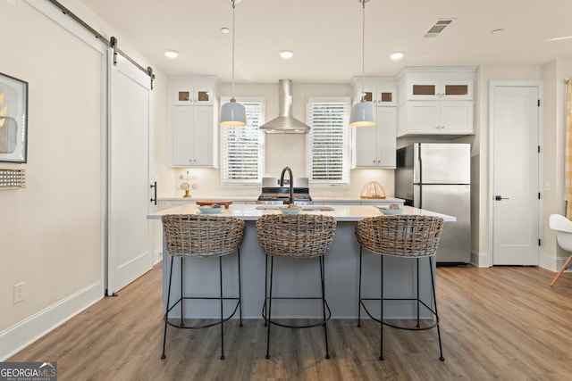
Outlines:
<svg viewBox="0 0 572 381"><path fill-rule="evenodd" d="M471 151L468 144L416 143L397 151L395 196L406 205L457 218L443 227L437 263L471 258Z"/></svg>

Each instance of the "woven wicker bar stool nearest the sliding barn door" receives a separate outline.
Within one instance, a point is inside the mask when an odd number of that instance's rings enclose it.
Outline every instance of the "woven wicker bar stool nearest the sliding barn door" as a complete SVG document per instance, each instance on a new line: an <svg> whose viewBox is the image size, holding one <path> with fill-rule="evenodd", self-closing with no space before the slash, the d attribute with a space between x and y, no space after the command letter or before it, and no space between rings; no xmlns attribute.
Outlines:
<svg viewBox="0 0 572 381"><path fill-rule="evenodd" d="M178 328L200 329L206 327L221 326L221 360L224 360L224 322L231 319L237 309L240 311L240 324L242 327L242 302L240 282L240 244L244 236L244 221L229 216L198 215L198 214L168 214L161 218L163 222L165 251L171 255L171 269L169 272L169 289L167 292L167 304L164 314L164 337L163 354L165 356L165 344L167 340L167 325ZM223 256L237 252L239 295L238 297L223 296ZM172 268L175 257L181 260L181 297L171 303ZM184 261L186 259L200 259L219 257L219 296L185 296L184 286ZM183 302L190 299L219 300L221 303L221 316L212 323L203 326L187 326L184 322ZM236 301L234 310L230 315L223 316L223 302ZM175 319L169 319L169 312L178 304L181 304L181 319L178 324ZM178 320L178 319L177 319Z"/></svg>

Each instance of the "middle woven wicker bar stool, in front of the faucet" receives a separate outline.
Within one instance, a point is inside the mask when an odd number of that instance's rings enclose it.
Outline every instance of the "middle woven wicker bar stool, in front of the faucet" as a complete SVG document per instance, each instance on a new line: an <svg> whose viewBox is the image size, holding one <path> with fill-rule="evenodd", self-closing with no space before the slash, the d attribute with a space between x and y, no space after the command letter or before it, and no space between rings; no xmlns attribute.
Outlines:
<svg viewBox="0 0 572 381"><path fill-rule="evenodd" d="M332 216L315 214L264 214L257 219L258 241L266 254L265 264L265 302L262 317L265 319L266 359L270 359L270 327L272 325L287 328L324 327L325 358L330 358L328 352L328 333L326 321L332 316L330 307L325 300L324 255L332 247L336 221ZM268 279L268 258L270 257L270 280ZM320 265L320 283L322 294L318 297L287 297L273 296L274 257L311 259L317 258ZM273 300L306 299L320 300L322 304L321 320L315 324L287 325L272 319ZM327 310L327 314L326 314Z"/></svg>

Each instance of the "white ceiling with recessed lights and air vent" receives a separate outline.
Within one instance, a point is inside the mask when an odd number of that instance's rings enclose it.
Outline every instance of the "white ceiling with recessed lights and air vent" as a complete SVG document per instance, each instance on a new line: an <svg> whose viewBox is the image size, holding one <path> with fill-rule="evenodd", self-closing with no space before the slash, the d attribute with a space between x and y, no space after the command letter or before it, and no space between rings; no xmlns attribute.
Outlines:
<svg viewBox="0 0 572 381"><path fill-rule="evenodd" d="M349 83L362 73L359 0L236 0L235 81ZM80 0L167 75L231 82L230 0ZM73 11L73 10L71 10ZM542 65L572 59L572 0L371 0L365 74L404 66ZM453 22L437 37L438 19ZM491 33L494 29L502 29ZM118 46L126 54L130 52ZM180 52L176 59L164 51ZM294 56L284 60L281 50ZM389 54L404 52L400 62ZM132 54L130 54L132 55Z"/></svg>

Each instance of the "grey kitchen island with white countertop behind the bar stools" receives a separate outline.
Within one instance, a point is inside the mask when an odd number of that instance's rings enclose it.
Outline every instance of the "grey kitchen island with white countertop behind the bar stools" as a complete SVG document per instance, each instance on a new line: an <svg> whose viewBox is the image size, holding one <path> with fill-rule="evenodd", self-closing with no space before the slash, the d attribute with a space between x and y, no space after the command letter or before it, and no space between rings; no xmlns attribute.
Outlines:
<svg viewBox="0 0 572 381"><path fill-rule="evenodd" d="M231 205L223 210L221 215L232 216L246 221L244 240L240 246L242 271L242 308L246 319L260 319L265 298L265 253L262 252L257 238L255 221L264 213L280 213L273 205L240 204ZM355 237L356 221L381 215L375 206L366 205L307 205L302 213L331 215L338 225L333 240L332 249L325 256L325 285L326 299L332 310L332 319L350 319L357 317L357 279L359 271L359 244ZM164 214L198 214L198 206L185 204L164 211L158 211L147 216L148 219L161 219ZM442 217L445 221L455 218L433 211L404 207L404 214L431 215ZM236 271L236 254L223 257L223 284L225 293L238 294L238 276ZM168 274L171 265L169 258L163 259L163 294L166 302ZM278 258L280 267L274 274L276 292L287 290L288 294L299 296L315 296L319 294L319 270L314 260L292 260ZM427 266L426 259L422 266ZM175 263L177 263L175 261ZM434 261L433 261L434 265ZM362 294L366 297L379 296L380 269L379 255L366 253L364 255L364 283ZM384 261L384 290L391 297L410 297L416 289L415 261L411 259L386 257ZM185 290L189 293L205 292L215 296L218 290L218 260L216 258L191 260L185 263ZM179 265L173 268L172 300L179 296L180 279ZM429 300L431 281L425 272L420 274L420 289L422 297ZM187 289L188 287L188 289ZM186 303L189 311L185 315L196 318L209 318L220 313L217 302L198 302L191 306ZM411 302L386 302L385 317L387 319L408 319L415 316ZM230 305L229 305L230 308ZM177 309L175 309L177 310ZM177 311L172 312L176 315ZM375 310L372 310L375 312ZM307 318L319 316L319 303L308 301L283 302L273 305L273 315L291 318ZM173 315L173 317L175 317Z"/></svg>

